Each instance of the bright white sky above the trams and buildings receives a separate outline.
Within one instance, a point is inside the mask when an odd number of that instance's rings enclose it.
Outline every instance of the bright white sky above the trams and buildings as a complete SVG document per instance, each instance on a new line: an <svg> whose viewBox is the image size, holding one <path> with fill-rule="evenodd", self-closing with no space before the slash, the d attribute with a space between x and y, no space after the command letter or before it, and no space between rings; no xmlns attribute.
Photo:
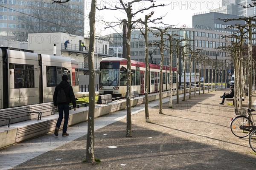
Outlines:
<svg viewBox="0 0 256 170"><path fill-rule="evenodd" d="M124 2L131 2L131 0L123 0ZM89 20L87 15L90 12L90 0L85 0L85 31L89 31ZM152 3L139 2L133 6L133 11L136 12L143 8L148 8ZM155 6L165 4L163 7L151 8L144 13L137 14L134 20L142 18L144 20L145 15L154 11L154 15L151 17L159 18L163 17L163 23L174 25L175 27L189 27L192 28L192 16L199 13L204 13L209 10L219 8L222 6L222 0L155 0ZM114 8L122 7L119 0L97 0L98 8ZM120 20L126 19L124 10L96 10L96 34L107 35L116 32L122 32L120 26L114 28L106 28L108 24L116 25ZM163 26L160 24L154 25L157 27Z"/></svg>

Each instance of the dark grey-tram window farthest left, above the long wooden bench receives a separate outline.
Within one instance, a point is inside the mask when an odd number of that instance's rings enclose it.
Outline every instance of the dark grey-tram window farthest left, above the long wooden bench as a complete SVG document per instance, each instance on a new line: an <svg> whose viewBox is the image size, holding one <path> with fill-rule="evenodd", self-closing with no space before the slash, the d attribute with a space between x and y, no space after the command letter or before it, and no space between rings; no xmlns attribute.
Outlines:
<svg viewBox="0 0 256 170"><path fill-rule="evenodd" d="M33 65L14 65L14 88L34 88L35 73Z"/></svg>

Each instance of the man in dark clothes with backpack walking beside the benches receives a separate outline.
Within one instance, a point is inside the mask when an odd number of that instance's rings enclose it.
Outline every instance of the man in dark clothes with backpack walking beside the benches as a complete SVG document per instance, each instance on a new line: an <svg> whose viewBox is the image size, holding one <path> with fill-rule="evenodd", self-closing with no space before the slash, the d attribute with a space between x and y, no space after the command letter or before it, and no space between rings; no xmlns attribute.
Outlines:
<svg viewBox="0 0 256 170"><path fill-rule="evenodd" d="M62 128L62 136L69 136L67 133L67 124L69 117L69 104L73 103L74 111L76 111L76 98L73 92L72 86L67 82L67 75L62 76L62 81L55 87L55 91L53 94L53 103L56 108L58 108L59 118L56 123L56 127L54 130L55 136L58 136L58 130L61 126L61 122L63 119L63 111L64 111L64 124Z"/></svg>

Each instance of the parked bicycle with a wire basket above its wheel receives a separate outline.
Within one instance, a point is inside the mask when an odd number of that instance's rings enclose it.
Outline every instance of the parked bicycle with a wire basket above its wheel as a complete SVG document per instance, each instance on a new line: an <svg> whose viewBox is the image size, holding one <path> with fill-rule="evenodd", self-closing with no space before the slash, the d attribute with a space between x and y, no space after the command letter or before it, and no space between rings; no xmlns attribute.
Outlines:
<svg viewBox="0 0 256 170"><path fill-rule="evenodd" d="M254 121L252 112L255 111L254 109L243 109L243 108L236 108L235 113L236 116L231 119L230 122L230 129L231 132L239 137L244 138L250 134L254 130ZM248 113L248 115L247 115Z"/></svg>

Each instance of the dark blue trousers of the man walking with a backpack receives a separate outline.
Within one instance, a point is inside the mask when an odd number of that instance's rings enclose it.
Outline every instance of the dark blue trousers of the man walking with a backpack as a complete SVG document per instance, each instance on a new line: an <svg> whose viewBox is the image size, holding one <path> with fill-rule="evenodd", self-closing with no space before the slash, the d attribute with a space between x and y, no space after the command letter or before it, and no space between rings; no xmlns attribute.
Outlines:
<svg viewBox="0 0 256 170"><path fill-rule="evenodd" d="M67 132L68 116L69 116L69 103L58 104L59 118L58 118L58 121L56 124L56 127L58 127L58 128L60 128L60 126L61 126L61 122L63 119L63 111L64 111L64 124L63 124L62 132L66 133Z"/></svg>

